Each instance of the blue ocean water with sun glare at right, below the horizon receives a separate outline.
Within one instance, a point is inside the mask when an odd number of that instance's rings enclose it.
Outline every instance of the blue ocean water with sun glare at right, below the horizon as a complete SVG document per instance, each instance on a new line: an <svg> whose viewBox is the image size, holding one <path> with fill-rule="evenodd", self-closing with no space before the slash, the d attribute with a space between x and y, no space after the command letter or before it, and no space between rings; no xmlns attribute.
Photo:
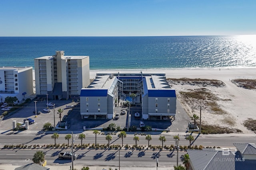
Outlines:
<svg viewBox="0 0 256 170"><path fill-rule="evenodd" d="M0 37L0 66L34 66L55 51L89 55L91 70L255 67L256 35Z"/></svg>

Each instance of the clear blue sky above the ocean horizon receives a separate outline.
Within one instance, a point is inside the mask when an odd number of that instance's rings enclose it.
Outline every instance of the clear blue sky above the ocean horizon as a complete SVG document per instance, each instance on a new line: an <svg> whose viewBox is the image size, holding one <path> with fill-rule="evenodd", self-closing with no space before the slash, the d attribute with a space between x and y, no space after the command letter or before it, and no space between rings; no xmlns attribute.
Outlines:
<svg viewBox="0 0 256 170"><path fill-rule="evenodd" d="M256 0L0 0L0 36L256 34Z"/></svg>

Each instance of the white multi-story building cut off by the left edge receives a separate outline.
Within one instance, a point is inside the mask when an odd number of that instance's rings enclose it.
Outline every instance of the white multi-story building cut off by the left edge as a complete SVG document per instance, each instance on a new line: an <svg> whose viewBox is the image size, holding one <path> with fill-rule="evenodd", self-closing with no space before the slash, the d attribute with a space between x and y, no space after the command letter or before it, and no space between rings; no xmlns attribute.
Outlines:
<svg viewBox="0 0 256 170"><path fill-rule="evenodd" d="M32 67L0 67L0 99L7 96L22 100L33 94Z"/></svg>

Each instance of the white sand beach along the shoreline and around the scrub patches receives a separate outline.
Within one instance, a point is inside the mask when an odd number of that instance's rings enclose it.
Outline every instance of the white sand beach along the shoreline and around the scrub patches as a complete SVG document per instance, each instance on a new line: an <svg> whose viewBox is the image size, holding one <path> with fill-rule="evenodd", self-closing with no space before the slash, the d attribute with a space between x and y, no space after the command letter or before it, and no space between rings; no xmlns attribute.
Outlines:
<svg viewBox="0 0 256 170"><path fill-rule="evenodd" d="M95 78L96 73L116 73L119 70L90 70L90 78ZM223 119L234 120L232 128L240 129L243 133L253 133L244 127L243 122L248 118L256 119L256 90L248 90L236 86L230 80L232 79L256 79L256 68L203 68L203 69L152 69L152 70L120 70L122 73L166 73L166 78L206 78L221 80L226 84L224 87L206 87L212 91L218 98L227 99L225 102L218 101L221 109L227 112L226 115L214 115L209 109L204 108L202 104L195 102L194 104L182 104L191 116L192 114L200 115L200 106L202 106L202 123L210 125L220 125L221 127L230 127L223 122ZM188 89L199 88L192 85L174 84L177 99L179 92ZM182 101L180 101L182 103Z"/></svg>

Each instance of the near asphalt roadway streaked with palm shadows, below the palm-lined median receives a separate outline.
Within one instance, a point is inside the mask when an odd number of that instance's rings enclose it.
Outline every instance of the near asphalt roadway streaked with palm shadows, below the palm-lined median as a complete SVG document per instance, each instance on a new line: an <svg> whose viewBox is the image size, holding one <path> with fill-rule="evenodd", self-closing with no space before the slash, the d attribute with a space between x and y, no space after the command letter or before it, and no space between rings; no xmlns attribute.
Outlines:
<svg viewBox="0 0 256 170"><path fill-rule="evenodd" d="M47 164L70 164L71 160L60 160L58 154L60 152L71 151L71 149L2 149L0 154L0 163L10 162L12 164L24 164L24 162L31 163L34 153L37 150L45 152L45 158ZM128 152L132 151L131 154ZM119 151L117 149L74 149L74 153L78 155L74 160L74 164L84 164L88 166L96 165L119 165ZM185 152L179 152L180 155ZM172 156L171 156L172 155ZM124 167L154 167L156 166L156 160L160 167L170 167L176 165L177 160L176 151L169 150L120 150L120 166ZM132 164L131 164L132 162ZM182 164L180 158L178 162Z"/></svg>

